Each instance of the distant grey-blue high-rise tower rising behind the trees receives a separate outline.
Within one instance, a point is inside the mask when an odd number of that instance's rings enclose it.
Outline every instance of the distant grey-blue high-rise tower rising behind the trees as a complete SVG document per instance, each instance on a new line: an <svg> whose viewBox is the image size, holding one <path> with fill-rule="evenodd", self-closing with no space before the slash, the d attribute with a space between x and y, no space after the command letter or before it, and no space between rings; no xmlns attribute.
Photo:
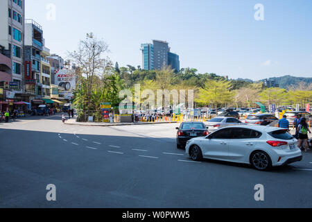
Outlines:
<svg viewBox="0 0 312 222"><path fill-rule="evenodd" d="M141 51L143 69L160 70L170 65L175 71L180 71L179 56L170 52L168 42L153 40L153 44L141 44Z"/></svg>

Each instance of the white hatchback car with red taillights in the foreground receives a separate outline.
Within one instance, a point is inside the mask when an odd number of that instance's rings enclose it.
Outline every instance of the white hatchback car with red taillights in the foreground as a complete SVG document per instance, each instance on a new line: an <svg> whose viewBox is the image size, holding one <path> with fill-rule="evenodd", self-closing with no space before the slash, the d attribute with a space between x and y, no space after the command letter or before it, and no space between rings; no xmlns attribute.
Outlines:
<svg viewBox="0 0 312 222"><path fill-rule="evenodd" d="M186 153L194 161L202 158L251 164L268 170L302 160L297 139L285 129L267 126L232 126L187 142Z"/></svg>

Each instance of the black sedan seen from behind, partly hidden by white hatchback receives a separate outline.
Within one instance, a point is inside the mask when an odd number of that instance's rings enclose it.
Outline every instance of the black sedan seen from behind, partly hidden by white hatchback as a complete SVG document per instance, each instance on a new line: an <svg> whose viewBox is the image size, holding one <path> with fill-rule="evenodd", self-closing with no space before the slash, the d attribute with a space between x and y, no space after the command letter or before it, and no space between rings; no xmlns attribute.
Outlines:
<svg viewBox="0 0 312 222"><path fill-rule="evenodd" d="M195 137L205 137L209 135L208 130L202 122L181 123L177 129L177 148L185 148L187 141Z"/></svg>

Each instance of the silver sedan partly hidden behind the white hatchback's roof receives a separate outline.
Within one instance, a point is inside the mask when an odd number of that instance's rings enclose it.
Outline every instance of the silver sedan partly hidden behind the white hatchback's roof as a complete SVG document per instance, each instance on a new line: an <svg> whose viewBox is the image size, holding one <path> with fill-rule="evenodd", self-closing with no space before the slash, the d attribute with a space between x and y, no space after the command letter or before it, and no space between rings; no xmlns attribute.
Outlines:
<svg viewBox="0 0 312 222"><path fill-rule="evenodd" d="M214 131L220 128L224 128L226 126L237 126L247 124L239 121L234 117L216 117L214 119L210 119L209 121L205 122L205 125L209 133L213 133Z"/></svg>

